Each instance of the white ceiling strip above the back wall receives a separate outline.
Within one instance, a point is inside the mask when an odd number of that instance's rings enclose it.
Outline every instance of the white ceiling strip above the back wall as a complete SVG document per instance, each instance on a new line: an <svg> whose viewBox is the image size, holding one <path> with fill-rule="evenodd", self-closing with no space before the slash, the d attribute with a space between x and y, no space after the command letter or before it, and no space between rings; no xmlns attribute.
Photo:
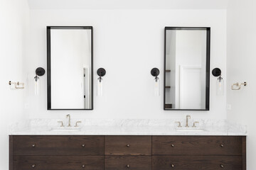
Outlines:
<svg viewBox="0 0 256 170"><path fill-rule="evenodd" d="M31 9L225 9L229 0L28 0Z"/></svg>

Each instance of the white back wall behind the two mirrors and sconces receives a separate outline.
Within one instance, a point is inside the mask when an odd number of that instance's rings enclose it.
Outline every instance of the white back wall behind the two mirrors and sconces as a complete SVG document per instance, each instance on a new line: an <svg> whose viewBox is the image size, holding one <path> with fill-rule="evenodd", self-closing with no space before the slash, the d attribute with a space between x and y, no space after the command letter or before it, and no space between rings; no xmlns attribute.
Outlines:
<svg viewBox="0 0 256 170"><path fill-rule="evenodd" d="M46 76L41 77L41 96L33 96L34 71L46 68L46 26L94 27L93 111L46 111ZM30 118L64 118L67 113L73 118L226 118L226 97L215 95L215 77L210 77L210 111L163 110L165 26L211 27L211 69L220 67L225 77L225 10L31 10L26 75L32 87L26 112ZM99 67L107 70L103 97L95 93ZM159 97L154 96L153 67L161 71Z"/></svg>

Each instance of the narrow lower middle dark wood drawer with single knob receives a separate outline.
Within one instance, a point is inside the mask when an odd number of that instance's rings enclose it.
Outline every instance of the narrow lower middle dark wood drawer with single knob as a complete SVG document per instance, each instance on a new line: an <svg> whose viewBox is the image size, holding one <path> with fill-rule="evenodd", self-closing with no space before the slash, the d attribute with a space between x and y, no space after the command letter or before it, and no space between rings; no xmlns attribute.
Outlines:
<svg viewBox="0 0 256 170"><path fill-rule="evenodd" d="M151 170L149 156L106 156L105 170Z"/></svg>

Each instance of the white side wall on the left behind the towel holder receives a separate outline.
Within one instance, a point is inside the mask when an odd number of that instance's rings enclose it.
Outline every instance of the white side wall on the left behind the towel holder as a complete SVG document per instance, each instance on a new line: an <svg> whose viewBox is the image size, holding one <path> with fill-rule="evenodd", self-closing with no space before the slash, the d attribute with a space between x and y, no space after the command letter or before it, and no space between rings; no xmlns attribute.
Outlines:
<svg viewBox="0 0 256 170"><path fill-rule="evenodd" d="M8 82L25 81L23 57L28 29L26 0L0 1L0 169L8 169L9 123L26 120L24 90L11 90ZM25 84L26 86L26 84Z"/></svg>

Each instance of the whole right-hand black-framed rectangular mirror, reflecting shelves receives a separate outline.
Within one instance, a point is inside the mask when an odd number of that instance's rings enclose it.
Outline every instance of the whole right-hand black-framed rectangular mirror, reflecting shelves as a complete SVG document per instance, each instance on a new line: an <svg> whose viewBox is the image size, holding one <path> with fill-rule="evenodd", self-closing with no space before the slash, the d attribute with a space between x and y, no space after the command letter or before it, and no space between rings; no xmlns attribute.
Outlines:
<svg viewBox="0 0 256 170"><path fill-rule="evenodd" d="M165 28L164 110L209 111L210 28Z"/></svg>

